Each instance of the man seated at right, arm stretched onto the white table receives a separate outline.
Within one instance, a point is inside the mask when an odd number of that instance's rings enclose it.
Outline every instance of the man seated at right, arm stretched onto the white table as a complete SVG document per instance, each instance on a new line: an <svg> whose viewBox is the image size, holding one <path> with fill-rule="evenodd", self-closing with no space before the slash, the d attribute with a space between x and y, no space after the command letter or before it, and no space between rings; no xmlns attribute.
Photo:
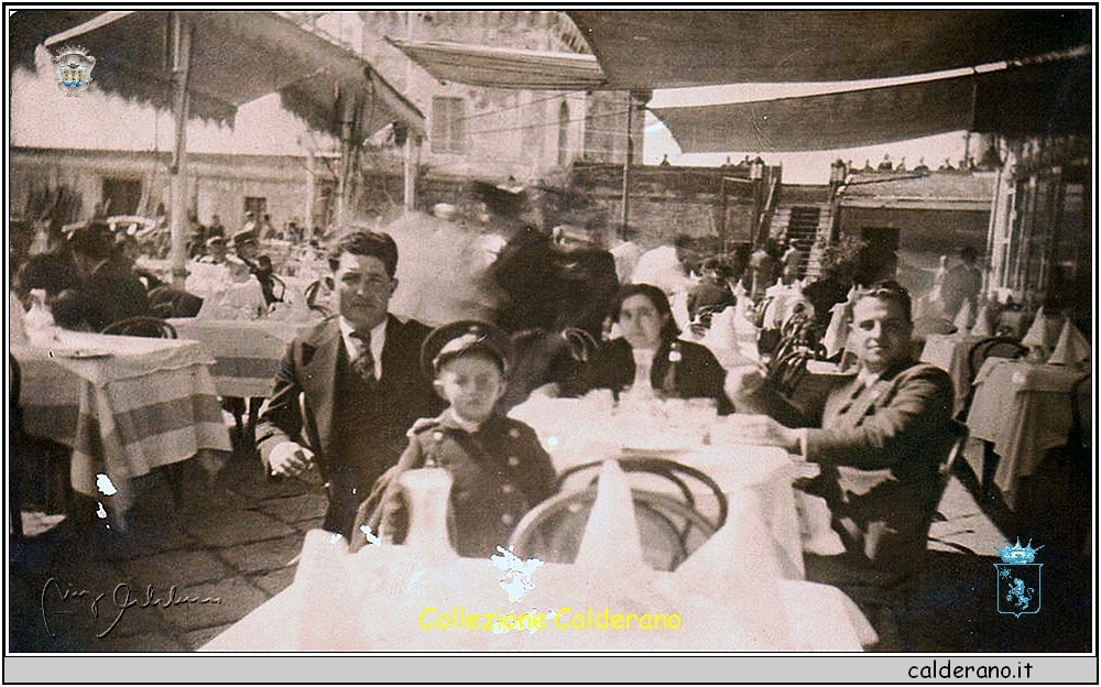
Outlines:
<svg viewBox="0 0 1101 687"><path fill-rule="evenodd" d="M819 476L798 486L825 499L843 552L805 556L807 578L858 603L886 598L881 592L916 571L939 497L938 467L957 436L951 379L914 360L912 330L909 295L884 282L858 295L850 346L859 371L824 403L799 412L756 368L727 378L737 412L762 414L744 418L746 441L818 464Z"/></svg>

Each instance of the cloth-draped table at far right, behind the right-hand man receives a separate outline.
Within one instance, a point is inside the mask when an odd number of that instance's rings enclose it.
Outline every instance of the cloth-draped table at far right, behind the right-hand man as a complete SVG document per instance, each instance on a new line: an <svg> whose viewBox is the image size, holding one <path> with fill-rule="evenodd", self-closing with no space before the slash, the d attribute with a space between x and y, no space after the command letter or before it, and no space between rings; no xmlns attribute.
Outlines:
<svg viewBox="0 0 1101 687"><path fill-rule="evenodd" d="M1071 391L1088 374L1077 366L1009 358L988 358L975 374L967 425L998 460L992 476L991 466L971 467L984 488L992 478L1010 509L1016 505L1020 480L1036 472L1049 449L1067 443Z"/></svg>

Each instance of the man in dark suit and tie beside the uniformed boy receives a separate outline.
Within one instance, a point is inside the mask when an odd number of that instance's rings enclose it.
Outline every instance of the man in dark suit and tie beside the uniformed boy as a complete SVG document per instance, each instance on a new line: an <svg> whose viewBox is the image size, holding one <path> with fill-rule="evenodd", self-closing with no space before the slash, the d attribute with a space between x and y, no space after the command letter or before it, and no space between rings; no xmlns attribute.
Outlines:
<svg viewBox="0 0 1101 687"><path fill-rule="evenodd" d="M393 238L348 235L329 266L339 315L287 347L257 444L272 475L297 476L316 464L329 497L323 526L347 537L359 503L397 462L406 430L444 406L419 366L430 328L386 312L397 287Z"/></svg>

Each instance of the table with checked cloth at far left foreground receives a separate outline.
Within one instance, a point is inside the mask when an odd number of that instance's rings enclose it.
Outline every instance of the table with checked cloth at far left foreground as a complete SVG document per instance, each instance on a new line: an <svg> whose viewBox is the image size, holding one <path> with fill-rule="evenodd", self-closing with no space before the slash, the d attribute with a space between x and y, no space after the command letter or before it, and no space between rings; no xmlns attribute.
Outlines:
<svg viewBox="0 0 1101 687"><path fill-rule="evenodd" d="M132 480L190 458L214 473L230 450L214 359L197 341L54 329L11 352L26 432L73 447L73 489L112 497L120 528Z"/></svg>

